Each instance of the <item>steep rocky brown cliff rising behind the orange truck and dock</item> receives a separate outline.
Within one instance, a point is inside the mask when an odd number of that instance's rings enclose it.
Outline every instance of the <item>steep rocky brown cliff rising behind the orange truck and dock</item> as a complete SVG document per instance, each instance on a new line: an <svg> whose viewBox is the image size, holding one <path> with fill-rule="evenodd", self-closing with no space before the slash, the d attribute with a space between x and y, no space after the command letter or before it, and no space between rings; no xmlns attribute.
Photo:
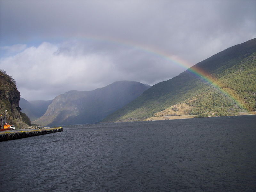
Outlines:
<svg viewBox="0 0 256 192"><path fill-rule="evenodd" d="M0 114L3 114L3 117L7 114L7 123L13 124L16 128L27 128L31 126L31 122L26 114L21 113L19 101L20 92L17 90L15 80L4 70L0 70Z"/></svg>

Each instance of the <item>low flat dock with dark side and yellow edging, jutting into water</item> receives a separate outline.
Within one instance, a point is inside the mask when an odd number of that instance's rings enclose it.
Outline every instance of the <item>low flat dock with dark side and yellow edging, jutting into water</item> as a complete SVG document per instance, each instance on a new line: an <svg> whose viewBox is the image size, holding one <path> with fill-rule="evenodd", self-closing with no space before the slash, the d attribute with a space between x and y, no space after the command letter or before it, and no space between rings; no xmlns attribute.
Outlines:
<svg viewBox="0 0 256 192"><path fill-rule="evenodd" d="M45 135L49 133L56 133L63 131L62 127L55 128L39 128L32 130L13 130L13 131L0 131L0 142L8 141L13 139L21 139L25 137L37 136L37 135Z"/></svg>

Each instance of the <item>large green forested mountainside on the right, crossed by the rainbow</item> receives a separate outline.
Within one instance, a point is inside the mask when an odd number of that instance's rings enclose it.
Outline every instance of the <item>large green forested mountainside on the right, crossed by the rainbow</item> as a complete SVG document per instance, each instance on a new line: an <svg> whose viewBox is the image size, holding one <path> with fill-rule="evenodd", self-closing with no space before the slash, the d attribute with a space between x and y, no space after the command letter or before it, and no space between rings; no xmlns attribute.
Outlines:
<svg viewBox="0 0 256 192"><path fill-rule="evenodd" d="M255 58L256 39L230 47L180 75L152 86L103 122L160 116L169 119L179 115L224 116L255 111Z"/></svg>

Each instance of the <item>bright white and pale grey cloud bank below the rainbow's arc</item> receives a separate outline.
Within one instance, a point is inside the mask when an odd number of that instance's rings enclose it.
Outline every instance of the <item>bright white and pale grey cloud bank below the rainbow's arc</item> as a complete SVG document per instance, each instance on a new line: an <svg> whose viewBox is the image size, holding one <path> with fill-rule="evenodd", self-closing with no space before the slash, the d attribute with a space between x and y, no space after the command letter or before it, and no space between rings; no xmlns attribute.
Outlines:
<svg viewBox="0 0 256 192"><path fill-rule="evenodd" d="M27 100L49 100L70 90L93 90L118 80L155 84L184 70L132 47L113 47L119 50L113 55L111 50L90 52L82 43L69 43L28 47L2 58L1 68L16 80L21 97Z"/></svg>

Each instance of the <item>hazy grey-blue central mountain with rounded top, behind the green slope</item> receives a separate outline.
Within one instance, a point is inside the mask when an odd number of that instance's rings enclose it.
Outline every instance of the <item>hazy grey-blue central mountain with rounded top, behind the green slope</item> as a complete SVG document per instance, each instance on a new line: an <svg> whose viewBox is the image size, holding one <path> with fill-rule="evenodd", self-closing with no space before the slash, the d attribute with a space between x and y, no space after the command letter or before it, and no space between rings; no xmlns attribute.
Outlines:
<svg viewBox="0 0 256 192"><path fill-rule="evenodd" d="M93 91L69 91L57 96L45 114L33 123L67 125L99 122L137 98L148 87L135 81L118 81Z"/></svg>

